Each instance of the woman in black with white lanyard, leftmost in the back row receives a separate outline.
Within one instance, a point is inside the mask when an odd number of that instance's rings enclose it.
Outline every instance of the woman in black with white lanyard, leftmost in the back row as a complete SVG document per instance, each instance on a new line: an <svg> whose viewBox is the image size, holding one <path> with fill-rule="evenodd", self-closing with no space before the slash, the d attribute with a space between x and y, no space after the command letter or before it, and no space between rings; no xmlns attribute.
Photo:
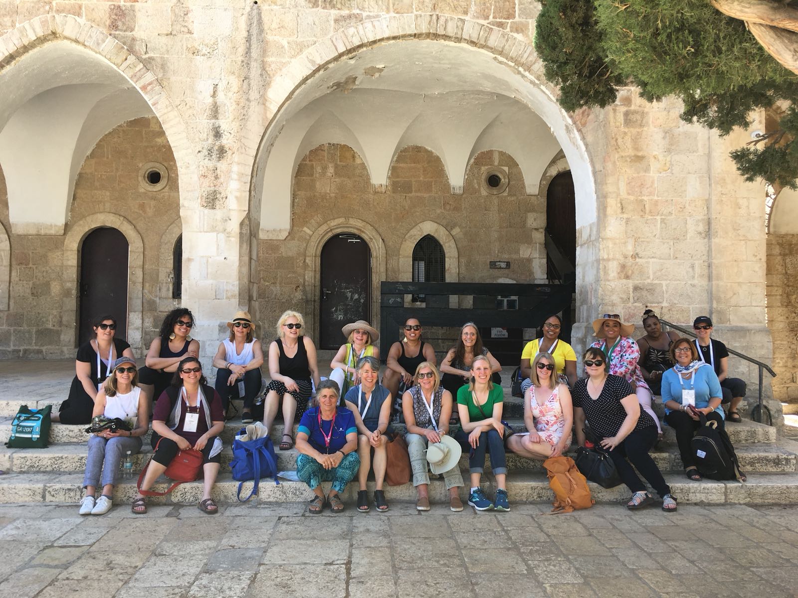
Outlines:
<svg viewBox="0 0 798 598"><path fill-rule="evenodd" d="M113 372L113 362L121 356L132 357L130 345L117 333L117 320L101 316L93 322L94 338L77 348L75 377L69 387L69 398L61 403L53 422L86 424L92 420L94 399L105 379Z"/></svg>

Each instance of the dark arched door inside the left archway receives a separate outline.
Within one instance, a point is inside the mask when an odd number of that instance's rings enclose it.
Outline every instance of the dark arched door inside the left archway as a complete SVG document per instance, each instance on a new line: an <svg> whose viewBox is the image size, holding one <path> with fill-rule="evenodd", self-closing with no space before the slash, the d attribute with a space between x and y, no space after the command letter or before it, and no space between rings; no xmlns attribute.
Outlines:
<svg viewBox="0 0 798 598"><path fill-rule="evenodd" d="M81 246L78 343L93 338L94 318L109 314L117 319L117 338L128 332L128 239L115 228L98 228Z"/></svg>

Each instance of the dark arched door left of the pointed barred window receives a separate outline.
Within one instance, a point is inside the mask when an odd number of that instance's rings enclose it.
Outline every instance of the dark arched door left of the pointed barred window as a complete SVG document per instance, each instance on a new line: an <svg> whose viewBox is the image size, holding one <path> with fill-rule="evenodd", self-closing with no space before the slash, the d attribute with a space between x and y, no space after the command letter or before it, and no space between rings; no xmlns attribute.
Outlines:
<svg viewBox="0 0 798 598"><path fill-rule="evenodd" d="M322 247L320 270L319 346L338 348L346 342L343 325L371 316L369 244L352 233L331 237Z"/></svg>

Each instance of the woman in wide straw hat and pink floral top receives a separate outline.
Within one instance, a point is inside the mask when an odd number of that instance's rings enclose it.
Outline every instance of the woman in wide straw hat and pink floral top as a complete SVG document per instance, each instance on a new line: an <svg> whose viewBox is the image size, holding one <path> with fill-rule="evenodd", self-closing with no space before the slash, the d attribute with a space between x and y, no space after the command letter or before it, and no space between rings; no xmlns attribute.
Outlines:
<svg viewBox="0 0 798 598"><path fill-rule="evenodd" d="M657 424L657 433L662 437L662 424L659 423L657 414L651 408L651 389L643 379L638 360L640 348L631 338L634 333L634 324L624 324L617 313L605 313L593 321L594 336L599 338L591 347L599 348L604 352L610 364L610 374L621 376L632 385L634 394L638 395L638 402L646 413L654 418Z"/></svg>

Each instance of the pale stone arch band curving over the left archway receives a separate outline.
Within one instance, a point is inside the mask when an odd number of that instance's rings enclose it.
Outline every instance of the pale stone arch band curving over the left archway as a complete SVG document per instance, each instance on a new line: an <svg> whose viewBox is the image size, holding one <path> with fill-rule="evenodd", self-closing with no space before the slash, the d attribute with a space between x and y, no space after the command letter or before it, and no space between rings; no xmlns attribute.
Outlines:
<svg viewBox="0 0 798 598"><path fill-rule="evenodd" d="M140 92L168 137L177 163L180 204L199 207L199 171L186 125L156 76L123 44L105 31L71 14L46 14L9 30L0 37L0 73L50 41L69 41L104 57Z"/></svg>

